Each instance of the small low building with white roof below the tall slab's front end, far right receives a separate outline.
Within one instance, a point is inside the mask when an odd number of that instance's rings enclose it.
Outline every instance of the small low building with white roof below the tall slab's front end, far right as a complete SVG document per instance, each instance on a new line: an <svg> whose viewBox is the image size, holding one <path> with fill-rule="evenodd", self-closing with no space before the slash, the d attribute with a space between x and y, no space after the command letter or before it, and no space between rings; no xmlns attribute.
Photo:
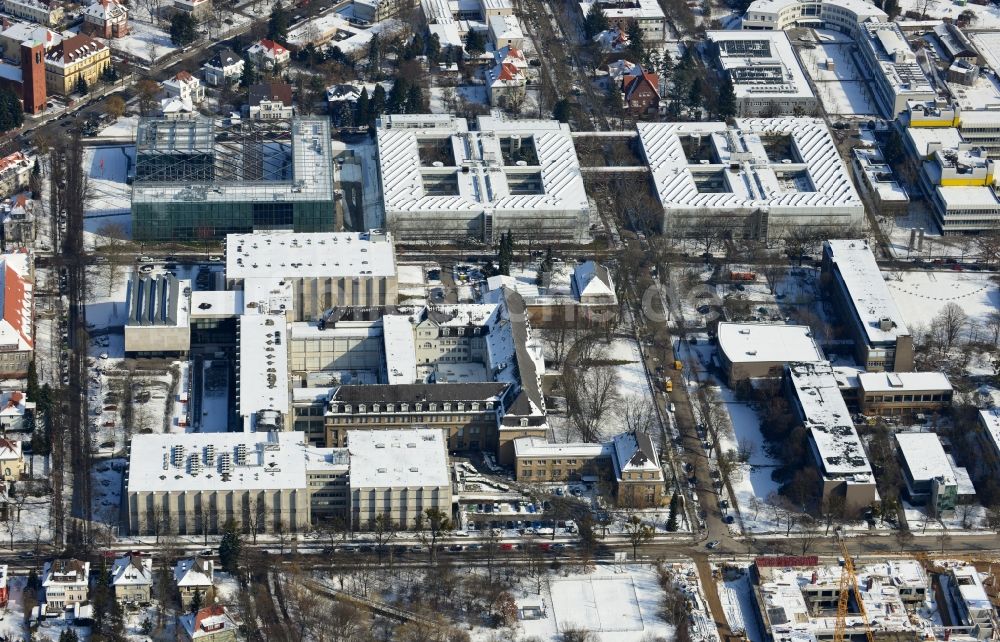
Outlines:
<svg viewBox="0 0 1000 642"><path fill-rule="evenodd" d="M932 413L951 405L951 382L941 372L862 372L858 388L866 415Z"/></svg>

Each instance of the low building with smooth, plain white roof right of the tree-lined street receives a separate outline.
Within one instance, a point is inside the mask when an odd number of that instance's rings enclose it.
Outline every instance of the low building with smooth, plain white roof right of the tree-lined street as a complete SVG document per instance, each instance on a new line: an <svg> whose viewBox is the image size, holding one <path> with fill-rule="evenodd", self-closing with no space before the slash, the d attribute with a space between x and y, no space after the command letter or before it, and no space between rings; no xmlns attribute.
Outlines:
<svg viewBox="0 0 1000 642"><path fill-rule="evenodd" d="M755 377L781 377L793 361L823 361L805 325L720 323L716 336L730 386Z"/></svg>

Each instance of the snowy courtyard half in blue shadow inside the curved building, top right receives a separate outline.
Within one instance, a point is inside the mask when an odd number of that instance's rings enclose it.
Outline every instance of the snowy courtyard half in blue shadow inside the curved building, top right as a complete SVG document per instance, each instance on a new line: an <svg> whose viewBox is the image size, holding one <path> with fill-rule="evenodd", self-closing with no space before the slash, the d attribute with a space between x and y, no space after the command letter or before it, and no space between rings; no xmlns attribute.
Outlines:
<svg viewBox="0 0 1000 642"><path fill-rule="evenodd" d="M815 48L799 48L799 54L826 110L840 116L877 116L868 83L851 58L854 44L850 38L827 29L814 32L818 38ZM833 60L832 68L827 66L828 59Z"/></svg>

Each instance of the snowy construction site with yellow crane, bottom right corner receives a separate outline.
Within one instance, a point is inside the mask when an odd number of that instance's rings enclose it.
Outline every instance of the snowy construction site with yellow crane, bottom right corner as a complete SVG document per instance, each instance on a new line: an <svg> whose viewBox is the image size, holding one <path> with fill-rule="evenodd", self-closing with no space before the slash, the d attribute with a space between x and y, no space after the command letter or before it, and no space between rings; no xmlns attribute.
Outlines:
<svg viewBox="0 0 1000 642"><path fill-rule="evenodd" d="M996 640L1000 582L986 559L927 555L836 563L758 557L724 566L720 597L736 639L769 642ZM737 606L739 604L739 606ZM742 619L742 621L740 621Z"/></svg>

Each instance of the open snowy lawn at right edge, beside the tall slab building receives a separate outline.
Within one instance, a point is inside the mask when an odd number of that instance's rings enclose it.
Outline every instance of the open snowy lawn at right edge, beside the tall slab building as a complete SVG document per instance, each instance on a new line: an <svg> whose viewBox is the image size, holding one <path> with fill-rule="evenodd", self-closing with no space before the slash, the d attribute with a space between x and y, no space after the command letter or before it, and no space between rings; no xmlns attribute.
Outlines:
<svg viewBox="0 0 1000 642"><path fill-rule="evenodd" d="M1000 292L991 275L981 272L923 270L883 274L903 319L914 328L929 326L948 303L956 303L982 324L1000 306Z"/></svg>

